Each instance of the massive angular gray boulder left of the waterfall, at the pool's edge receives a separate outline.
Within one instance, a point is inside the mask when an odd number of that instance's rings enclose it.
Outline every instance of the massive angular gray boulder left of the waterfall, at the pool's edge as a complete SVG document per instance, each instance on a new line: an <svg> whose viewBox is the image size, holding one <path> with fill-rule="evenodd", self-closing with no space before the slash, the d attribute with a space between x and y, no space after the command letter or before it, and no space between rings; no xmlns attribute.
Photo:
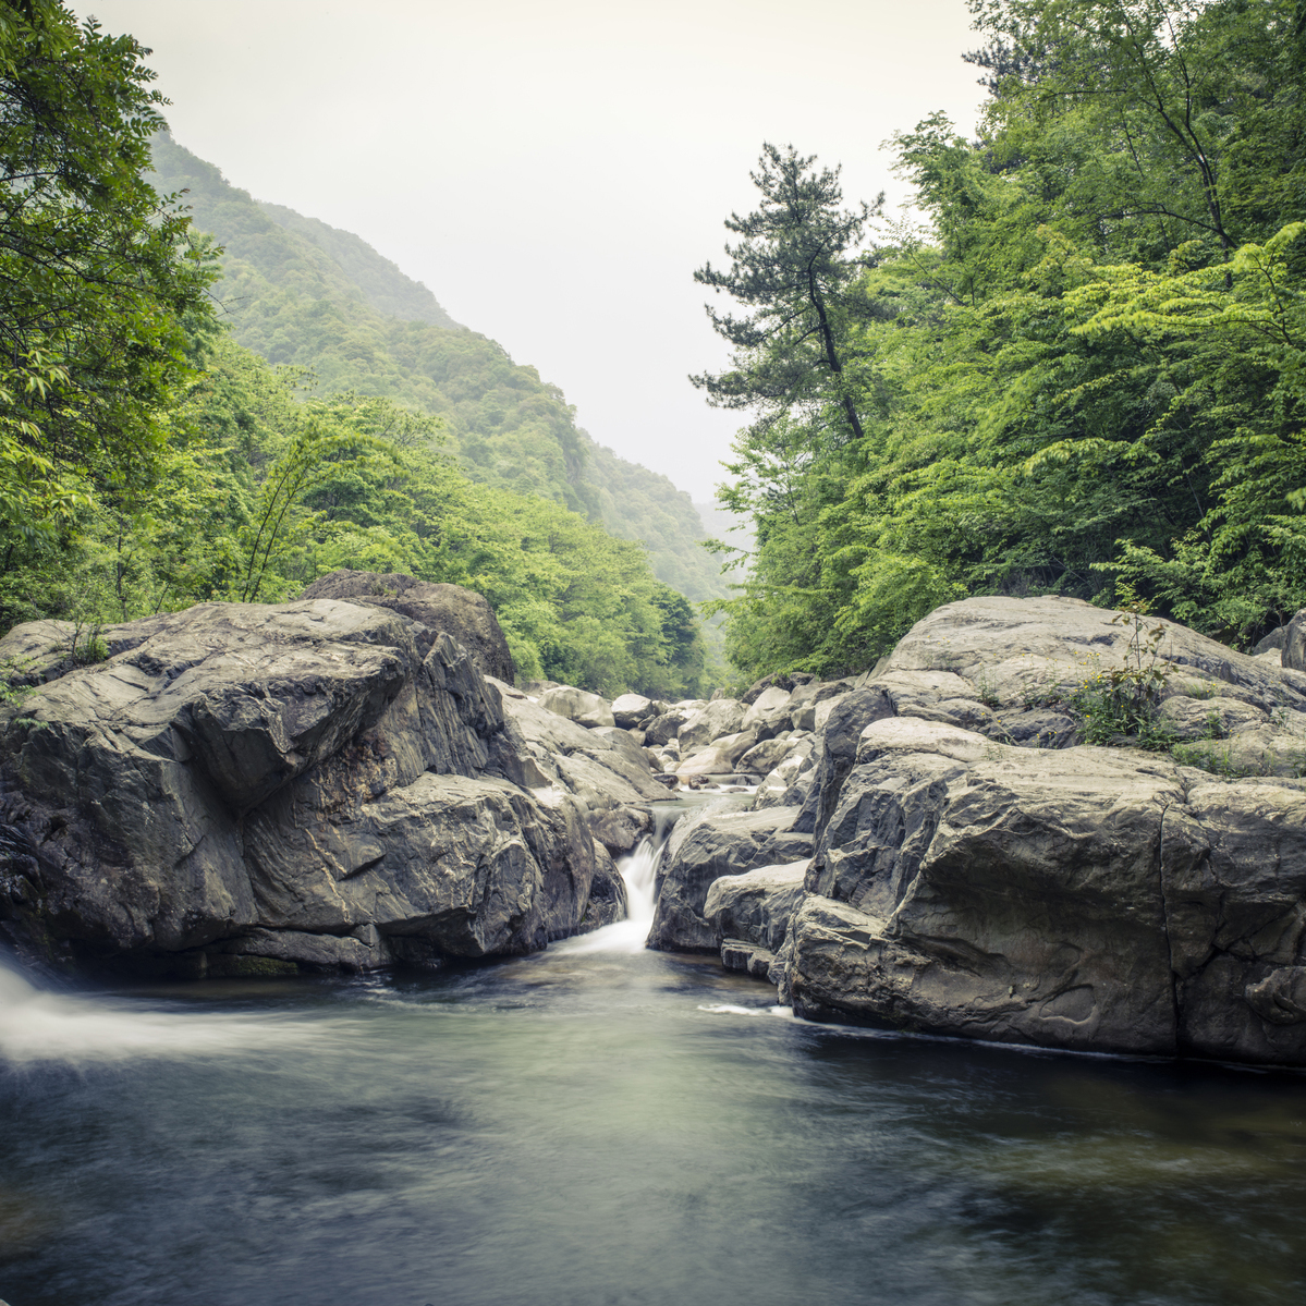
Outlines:
<svg viewBox="0 0 1306 1306"><path fill-rule="evenodd" d="M524 788L521 735L447 633L315 599L111 636L4 725L0 918L29 948L370 966L525 952L584 917L584 814Z"/></svg>

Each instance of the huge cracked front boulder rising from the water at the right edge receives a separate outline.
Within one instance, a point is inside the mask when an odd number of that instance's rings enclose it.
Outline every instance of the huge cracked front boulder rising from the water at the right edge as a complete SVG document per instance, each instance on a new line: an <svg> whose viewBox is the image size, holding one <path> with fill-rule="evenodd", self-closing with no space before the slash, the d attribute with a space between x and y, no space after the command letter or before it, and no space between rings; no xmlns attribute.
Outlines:
<svg viewBox="0 0 1306 1306"><path fill-rule="evenodd" d="M1132 750L862 735L793 919L799 1015L1306 1063L1306 785Z"/></svg>

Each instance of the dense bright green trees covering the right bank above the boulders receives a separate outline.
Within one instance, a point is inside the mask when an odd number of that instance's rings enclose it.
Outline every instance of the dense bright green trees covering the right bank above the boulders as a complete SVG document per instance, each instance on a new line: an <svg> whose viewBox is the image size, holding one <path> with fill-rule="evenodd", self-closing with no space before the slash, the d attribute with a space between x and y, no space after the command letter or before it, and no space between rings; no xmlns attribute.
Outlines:
<svg viewBox="0 0 1306 1306"><path fill-rule="evenodd" d="M837 379L814 360L806 389L748 396L763 421L726 487L757 534L730 605L746 673L866 666L976 593L1136 597L1241 646L1306 605L1293 4L972 10L980 138L939 115L895 138L929 222L833 249ZM755 223L777 259L858 218L812 161L768 149L763 166L785 158L818 200ZM774 218L759 184L754 217ZM730 253L735 283L717 283L738 294ZM777 320L816 312L811 294L763 298ZM729 338L734 374L756 374L771 346Z"/></svg>

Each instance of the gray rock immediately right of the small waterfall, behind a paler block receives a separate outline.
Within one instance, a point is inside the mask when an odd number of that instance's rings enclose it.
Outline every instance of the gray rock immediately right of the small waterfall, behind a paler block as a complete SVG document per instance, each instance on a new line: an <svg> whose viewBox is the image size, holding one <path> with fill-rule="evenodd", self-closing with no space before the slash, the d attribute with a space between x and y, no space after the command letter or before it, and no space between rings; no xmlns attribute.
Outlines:
<svg viewBox="0 0 1306 1306"><path fill-rule="evenodd" d="M777 861L768 848L797 815L791 807L750 812L709 804L680 818L662 854L648 946L663 952L716 952L720 936L703 914L712 882Z"/></svg>

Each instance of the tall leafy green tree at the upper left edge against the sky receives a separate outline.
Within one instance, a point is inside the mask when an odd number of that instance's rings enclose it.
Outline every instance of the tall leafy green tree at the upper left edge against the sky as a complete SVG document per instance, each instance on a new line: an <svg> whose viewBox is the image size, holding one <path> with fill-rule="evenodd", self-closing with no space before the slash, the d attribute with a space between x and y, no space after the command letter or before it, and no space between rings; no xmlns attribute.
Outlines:
<svg viewBox="0 0 1306 1306"><path fill-rule="evenodd" d="M142 174L146 54L61 4L0 4L0 550L57 546L91 495L155 482L212 279Z"/></svg>

